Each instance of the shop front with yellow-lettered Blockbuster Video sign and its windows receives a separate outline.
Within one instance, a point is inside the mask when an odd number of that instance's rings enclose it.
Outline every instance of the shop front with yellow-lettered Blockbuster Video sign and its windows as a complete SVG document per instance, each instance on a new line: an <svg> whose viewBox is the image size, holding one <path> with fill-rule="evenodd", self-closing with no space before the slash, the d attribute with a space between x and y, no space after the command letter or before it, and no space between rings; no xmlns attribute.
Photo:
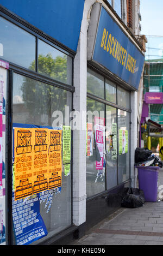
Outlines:
<svg viewBox="0 0 163 256"><path fill-rule="evenodd" d="M144 56L103 4L92 5L87 33L86 227L91 227L121 206L121 189L134 182L135 92Z"/></svg>

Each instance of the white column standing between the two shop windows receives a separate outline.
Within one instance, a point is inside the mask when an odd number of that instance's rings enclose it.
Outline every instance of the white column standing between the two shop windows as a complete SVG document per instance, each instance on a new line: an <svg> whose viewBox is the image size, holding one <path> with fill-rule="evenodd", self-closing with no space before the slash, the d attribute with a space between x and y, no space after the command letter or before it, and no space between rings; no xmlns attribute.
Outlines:
<svg viewBox="0 0 163 256"><path fill-rule="evenodd" d="M80 114L80 129L73 130L73 224L86 221L86 73L87 18L84 7L77 54L74 58L73 108ZM77 125L78 126L78 125ZM84 128L84 129L83 129Z"/></svg>

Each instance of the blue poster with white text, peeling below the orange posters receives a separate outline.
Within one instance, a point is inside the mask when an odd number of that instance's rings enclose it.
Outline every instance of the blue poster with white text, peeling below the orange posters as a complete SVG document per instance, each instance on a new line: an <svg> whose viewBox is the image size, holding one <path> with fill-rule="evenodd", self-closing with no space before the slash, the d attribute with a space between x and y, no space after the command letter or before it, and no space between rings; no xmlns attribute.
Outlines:
<svg viewBox="0 0 163 256"><path fill-rule="evenodd" d="M47 235L37 194L15 201L12 193L12 218L17 245L29 245Z"/></svg>

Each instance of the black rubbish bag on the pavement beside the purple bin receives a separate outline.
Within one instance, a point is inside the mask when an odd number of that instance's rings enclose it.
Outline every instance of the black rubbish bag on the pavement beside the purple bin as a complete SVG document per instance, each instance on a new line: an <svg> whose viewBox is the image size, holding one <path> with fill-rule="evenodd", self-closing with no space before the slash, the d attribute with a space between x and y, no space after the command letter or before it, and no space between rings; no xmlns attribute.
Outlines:
<svg viewBox="0 0 163 256"><path fill-rule="evenodd" d="M143 190L138 188L124 188L121 206L127 208L141 207L145 204Z"/></svg>

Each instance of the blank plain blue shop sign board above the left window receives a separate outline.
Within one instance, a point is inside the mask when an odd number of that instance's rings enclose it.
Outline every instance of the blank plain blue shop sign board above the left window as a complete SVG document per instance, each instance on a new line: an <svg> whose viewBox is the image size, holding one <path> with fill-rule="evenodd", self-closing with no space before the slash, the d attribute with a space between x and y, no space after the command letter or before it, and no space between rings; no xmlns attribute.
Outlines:
<svg viewBox="0 0 163 256"><path fill-rule="evenodd" d="M76 52L84 1L0 0L0 4Z"/></svg>

